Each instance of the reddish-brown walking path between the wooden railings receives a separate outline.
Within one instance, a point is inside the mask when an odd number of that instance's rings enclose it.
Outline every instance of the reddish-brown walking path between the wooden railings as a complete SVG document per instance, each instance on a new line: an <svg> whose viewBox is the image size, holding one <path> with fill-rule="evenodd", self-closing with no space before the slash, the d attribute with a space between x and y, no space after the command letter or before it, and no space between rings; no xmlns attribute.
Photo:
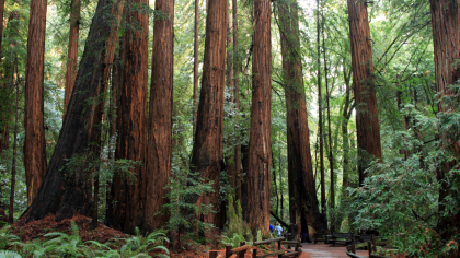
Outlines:
<svg viewBox="0 0 460 258"><path fill-rule="evenodd" d="M303 244L302 249L308 258L348 258L345 246L332 246L324 244ZM369 257L367 250L357 250L357 255Z"/></svg>

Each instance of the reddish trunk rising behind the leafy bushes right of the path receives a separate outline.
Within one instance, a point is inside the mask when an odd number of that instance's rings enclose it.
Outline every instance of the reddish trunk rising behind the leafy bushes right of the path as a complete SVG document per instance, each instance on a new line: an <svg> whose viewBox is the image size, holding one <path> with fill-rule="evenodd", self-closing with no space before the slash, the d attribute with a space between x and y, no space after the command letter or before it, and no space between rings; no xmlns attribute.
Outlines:
<svg viewBox="0 0 460 258"><path fill-rule="evenodd" d="M355 87L356 130L358 138L359 185L363 185L373 159L381 160L379 117L373 82L372 46L365 2L347 0L352 42L353 85Z"/></svg>

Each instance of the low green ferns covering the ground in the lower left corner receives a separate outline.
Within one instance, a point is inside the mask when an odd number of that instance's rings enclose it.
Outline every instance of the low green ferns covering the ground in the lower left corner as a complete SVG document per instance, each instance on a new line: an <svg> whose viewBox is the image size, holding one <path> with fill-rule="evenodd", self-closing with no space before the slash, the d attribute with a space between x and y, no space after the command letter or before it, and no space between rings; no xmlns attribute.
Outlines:
<svg viewBox="0 0 460 258"><path fill-rule="evenodd" d="M170 257L169 249L163 245L169 239L162 232L142 236L136 228L135 235L129 238L112 238L102 244L96 241L83 242L74 221L71 222L71 234L53 232L45 234L42 239L23 243L11 233L10 225L3 226L0 230L0 257ZM161 254L150 255L152 251Z"/></svg>

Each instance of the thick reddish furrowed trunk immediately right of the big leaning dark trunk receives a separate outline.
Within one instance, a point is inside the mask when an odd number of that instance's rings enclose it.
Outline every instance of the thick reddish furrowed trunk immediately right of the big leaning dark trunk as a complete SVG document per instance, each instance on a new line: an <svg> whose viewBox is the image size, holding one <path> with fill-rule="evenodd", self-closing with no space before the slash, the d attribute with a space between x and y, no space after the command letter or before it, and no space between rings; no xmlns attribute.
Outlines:
<svg viewBox="0 0 460 258"><path fill-rule="evenodd" d="M126 5L129 24L123 39L123 70L119 83L119 124L115 159L139 161L130 175L117 172L112 184L113 202L108 206L107 224L125 233L134 233L143 224L147 83L148 83L148 2L134 0ZM130 9L136 4L136 9ZM143 10L143 11L142 11ZM116 40L116 39L115 39Z"/></svg>

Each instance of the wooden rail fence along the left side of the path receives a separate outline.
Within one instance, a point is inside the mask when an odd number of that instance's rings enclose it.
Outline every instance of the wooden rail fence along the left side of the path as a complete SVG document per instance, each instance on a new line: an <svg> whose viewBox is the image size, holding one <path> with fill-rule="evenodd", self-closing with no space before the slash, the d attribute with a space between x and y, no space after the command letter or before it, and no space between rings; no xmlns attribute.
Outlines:
<svg viewBox="0 0 460 258"><path fill-rule="evenodd" d="M248 246L244 242L240 243L240 247L233 248L232 246L226 246L226 253L220 254L218 256L217 250L209 251L209 258L244 258L244 253L248 250L252 250L252 257L253 258L263 258L263 257L278 257L278 258L285 258L285 257L299 257L302 254L302 248L300 246L300 242L296 241L285 241L285 237L277 237L266 241L260 241L260 242L253 242L252 246ZM278 249L268 254L260 255L257 256L257 246L271 244L277 242L278 243ZM281 250L281 245L295 245L295 249L292 250Z"/></svg>

